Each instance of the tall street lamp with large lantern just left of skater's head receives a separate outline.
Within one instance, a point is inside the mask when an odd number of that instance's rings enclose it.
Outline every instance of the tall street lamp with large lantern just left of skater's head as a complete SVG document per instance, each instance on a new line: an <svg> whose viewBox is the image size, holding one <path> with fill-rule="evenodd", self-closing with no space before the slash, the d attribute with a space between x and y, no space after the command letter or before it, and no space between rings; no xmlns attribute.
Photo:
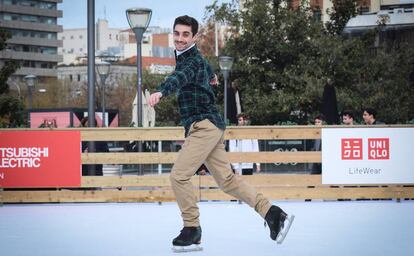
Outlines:
<svg viewBox="0 0 414 256"><path fill-rule="evenodd" d="M147 8L130 8L126 10L129 26L134 31L137 41L137 127L142 127L142 37L151 20L152 10ZM138 152L142 152L142 142L137 142ZM142 174L142 166L138 166Z"/></svg>

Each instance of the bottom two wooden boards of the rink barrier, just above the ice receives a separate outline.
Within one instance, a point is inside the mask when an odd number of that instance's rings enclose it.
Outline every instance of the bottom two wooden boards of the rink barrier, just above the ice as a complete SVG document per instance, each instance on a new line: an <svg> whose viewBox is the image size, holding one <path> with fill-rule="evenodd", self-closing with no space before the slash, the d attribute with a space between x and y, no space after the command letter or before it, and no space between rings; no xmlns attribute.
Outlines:
<svg viewBox="0 0 414 256"><path fill-rule="evenodd" d="M4 203L43 202L166 202L174 201L168 175L82 177L81 188L55 190L6 190ZM273 200L305 199L389 199L414 198L413 186L327 186L320 175L258 174L242 176L266 197ZM198 200L234 200L223 193L211 176L192 179ZM93 188L93 190L90 190Z"/></svg>

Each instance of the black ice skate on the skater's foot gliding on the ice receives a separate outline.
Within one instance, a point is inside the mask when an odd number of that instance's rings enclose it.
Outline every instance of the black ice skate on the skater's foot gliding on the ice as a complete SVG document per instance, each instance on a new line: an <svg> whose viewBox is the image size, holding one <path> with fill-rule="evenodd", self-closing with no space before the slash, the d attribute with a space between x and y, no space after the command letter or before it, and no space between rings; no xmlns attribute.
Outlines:
<svg viewBox="0 0 414 256"><path fill-rule="evenodd" d="M184 227L173 240L173 252L201 251L201 227Z"/></svg>

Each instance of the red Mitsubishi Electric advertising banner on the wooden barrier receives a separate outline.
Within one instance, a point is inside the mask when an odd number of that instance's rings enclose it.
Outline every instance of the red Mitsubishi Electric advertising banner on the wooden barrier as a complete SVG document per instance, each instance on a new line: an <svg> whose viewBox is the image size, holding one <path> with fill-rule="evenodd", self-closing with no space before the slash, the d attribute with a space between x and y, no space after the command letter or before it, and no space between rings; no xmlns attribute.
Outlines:
<svg viewBox="0 0 414 256"><path fill-rule="evenodd" d="M0 187L78 187L79 131L0 131Z"/></svg>

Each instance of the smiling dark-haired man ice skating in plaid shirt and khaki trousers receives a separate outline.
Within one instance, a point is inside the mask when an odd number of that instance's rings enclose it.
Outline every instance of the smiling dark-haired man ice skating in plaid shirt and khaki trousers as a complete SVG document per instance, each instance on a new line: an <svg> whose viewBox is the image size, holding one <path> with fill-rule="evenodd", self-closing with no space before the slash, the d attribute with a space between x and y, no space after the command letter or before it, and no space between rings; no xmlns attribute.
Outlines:
<svg viewBox="0 0 414 256"><path fill-rule="evenodd" d="M212 85L217 83L210 65L195 45L198 22L189 16L175 19L173 39L176 68L151 94L150 106L162 97L176 94L181 123L186 140L180 150L170 175L171 186L177 198L184 227L173 240L176 252L200 250L201 227L199 210L193 185L190 181L201 164L210 170L220 188L227 194L242 200L265 219L270 237L281 243L285 238L293 215L287 215L278 206L235 175L224 148L225 123L215 105Z"/></svg>

